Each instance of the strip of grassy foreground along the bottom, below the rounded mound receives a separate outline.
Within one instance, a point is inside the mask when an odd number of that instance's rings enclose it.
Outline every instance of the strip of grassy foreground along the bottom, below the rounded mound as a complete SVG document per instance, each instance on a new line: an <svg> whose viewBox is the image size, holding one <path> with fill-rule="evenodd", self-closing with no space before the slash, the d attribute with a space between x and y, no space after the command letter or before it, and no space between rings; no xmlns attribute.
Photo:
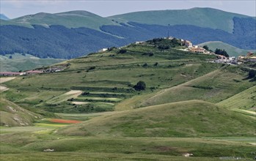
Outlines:
<svg viewBox="0 0 256 161"><path fill-rule="evenodd" d="M12 138L9 138L10 135ZM27 157L39 157L42 154L50 158L65 153L71 156L96 154L92 157L95 160L104 156L112 156L110 160L122 160L123 157L128 160L148 160L153 156L158 156L153 160L185 160L183 154L191 153L195 157L191 160L216 160L216 157L252 158L254 151L254 146L250 144L202 138L67 138L37 132L4 134L1 137L1 157L15 158L18 154L23 154L26 157L21 157L22 160L26 160ZM42 153L44 149L54 151ZM123 154L126 154L126 157Z"/></svg>

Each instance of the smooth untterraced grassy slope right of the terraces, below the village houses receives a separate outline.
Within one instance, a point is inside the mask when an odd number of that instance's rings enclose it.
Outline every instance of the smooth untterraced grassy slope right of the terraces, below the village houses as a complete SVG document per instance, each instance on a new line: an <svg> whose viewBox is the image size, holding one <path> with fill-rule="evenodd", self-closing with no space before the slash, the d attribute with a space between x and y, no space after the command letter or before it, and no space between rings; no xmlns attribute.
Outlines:
<svg viewBox="0 0 256 161"><path fill-rule="evenodd" d="M178 86L158 91L139 106L160 105L183 100L221 102L255 86L255 81L246 78L246 72L238 67L224 67Z"/></svg>

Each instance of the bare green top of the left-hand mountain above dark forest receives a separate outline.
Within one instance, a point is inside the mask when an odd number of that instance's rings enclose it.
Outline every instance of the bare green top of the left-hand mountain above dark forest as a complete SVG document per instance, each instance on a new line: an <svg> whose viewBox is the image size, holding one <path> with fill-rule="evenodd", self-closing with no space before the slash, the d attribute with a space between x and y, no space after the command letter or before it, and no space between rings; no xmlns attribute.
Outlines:
<svg viewBox="0 0 256 161"><path fill-rule="evenodd" d="M35 24L45 27L62 25L67 28L87 27L90 29L99 29L102 25L117 25L117 23L112 22L108 18L102 18L86 11L70 11L56 14L40 12L35 15L26 15L21 18L15 18L10 20L10 22L21 26L24 24L26 24L26 26Z"/></svg>

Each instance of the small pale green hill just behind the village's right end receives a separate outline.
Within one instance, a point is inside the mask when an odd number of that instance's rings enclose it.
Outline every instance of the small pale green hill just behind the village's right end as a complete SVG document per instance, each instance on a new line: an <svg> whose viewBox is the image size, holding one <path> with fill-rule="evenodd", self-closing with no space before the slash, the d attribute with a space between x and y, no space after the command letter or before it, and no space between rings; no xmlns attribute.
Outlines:
<svg viewBox="0 0 256 161"><path fill-rule="evenodd" d="M209 49L211 50L215 50L216 48L221 48L221 49L224 49L227 51L227 53L230 55L230 56L235 56L235 57L238 57L238 56L245 56L246 53L248 53L249 50L244 50L244 49L241 49L241 48L236 48L235 46L232 46L232 45L229 45L227 43L224 43L224 42L204 42L202 44L199 44L199 46L203 46L203 45L208 45Z"/></svg>

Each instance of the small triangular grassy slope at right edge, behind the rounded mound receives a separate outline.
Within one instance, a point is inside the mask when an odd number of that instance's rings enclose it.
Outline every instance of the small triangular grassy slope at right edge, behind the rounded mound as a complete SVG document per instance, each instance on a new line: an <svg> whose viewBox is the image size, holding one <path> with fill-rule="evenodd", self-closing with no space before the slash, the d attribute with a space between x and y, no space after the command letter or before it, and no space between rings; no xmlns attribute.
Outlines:
<svg viewBox="0 0 256 161"><path fill-rule="evenodd" d="M235 94L233 97L219 102L218 105L222 105L230 109L244 109L249 110L256 107L256 86L252 86L249 89ZM252 109L253 110L253 109ZM255 110L255 109L254 109Z"/></svg>

